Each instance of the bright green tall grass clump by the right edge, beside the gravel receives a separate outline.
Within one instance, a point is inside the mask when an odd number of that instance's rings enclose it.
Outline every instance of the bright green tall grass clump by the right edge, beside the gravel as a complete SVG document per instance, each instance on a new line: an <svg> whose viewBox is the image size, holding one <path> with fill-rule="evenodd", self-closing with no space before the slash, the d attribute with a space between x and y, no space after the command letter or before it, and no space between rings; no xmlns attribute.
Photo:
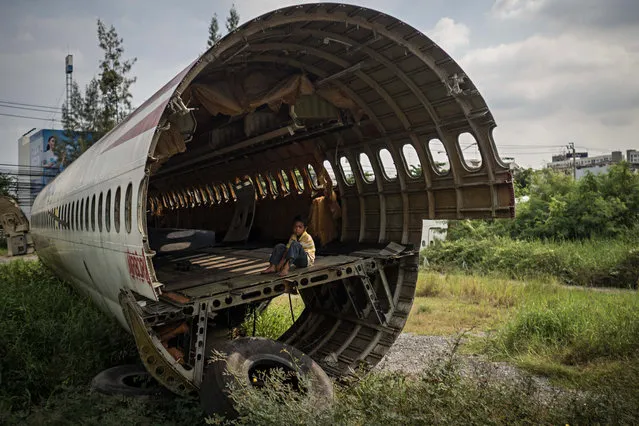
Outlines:
<svg viewBox="0 0 639 426"><path fill-rule="evenodd" d="M565 364L639 355L639 295L592 294L533 299L498 333L495 345L509 356L548 354Z"/></svg>

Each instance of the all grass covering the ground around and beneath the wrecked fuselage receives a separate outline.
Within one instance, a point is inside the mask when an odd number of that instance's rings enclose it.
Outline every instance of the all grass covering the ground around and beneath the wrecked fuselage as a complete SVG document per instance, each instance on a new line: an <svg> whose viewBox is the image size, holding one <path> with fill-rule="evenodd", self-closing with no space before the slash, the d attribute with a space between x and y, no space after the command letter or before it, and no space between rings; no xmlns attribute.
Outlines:
<svg viewBox="0 0 639 426"><path fill-rule="evenodd" d="M90 392L101 369L137 360L133 340L39 262L0 265L0 424L204 424L196 400ZM233 424L584 424L639 419L639 299L632 291L569 289L543 280L421 273L406 330L488 334L471 349L592 393L541 401L534 383L469 378L443 362L417 376L370 374L336 384L323 410L290 395L240 390ZM292 298L297 318L303 309ZM290 326L288 297L257 317L256 334ZM252 333L252 318L244 329ZM289 398L289 399L286 399ZM285 403L282 404L281 401ZM125 420L123 420L125 419ZM214 423L229 424L226 419Z"/></svg>

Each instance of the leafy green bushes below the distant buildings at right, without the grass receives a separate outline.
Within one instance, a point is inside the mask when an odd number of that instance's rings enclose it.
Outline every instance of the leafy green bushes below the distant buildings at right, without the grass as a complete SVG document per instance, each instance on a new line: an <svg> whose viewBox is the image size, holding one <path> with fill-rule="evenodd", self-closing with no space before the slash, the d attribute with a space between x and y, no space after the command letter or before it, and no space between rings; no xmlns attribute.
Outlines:
<svg viewBox="0 0 639 426"><path fill-rule="evenodd" d="M628 163L612 166L608 173L588 174L578 181L551 169L515 174L519 202L512 221L454 222L451 238L487 235L517 239L583 240L617 238L639 229L639 174ZM457 229L452 229L457 227Z"/></svg>

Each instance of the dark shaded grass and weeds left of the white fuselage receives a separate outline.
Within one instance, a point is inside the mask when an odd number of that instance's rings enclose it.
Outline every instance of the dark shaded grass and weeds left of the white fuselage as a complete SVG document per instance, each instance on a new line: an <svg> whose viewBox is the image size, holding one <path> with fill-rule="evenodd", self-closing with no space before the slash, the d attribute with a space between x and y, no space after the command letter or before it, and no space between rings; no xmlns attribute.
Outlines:
<svg viewBox="0 0 639 426"><path fill-rule="evenodd" d="M0 408L41 403L60 386L137 358L117 323L40 263L1 264L0 288Z"/></svg>

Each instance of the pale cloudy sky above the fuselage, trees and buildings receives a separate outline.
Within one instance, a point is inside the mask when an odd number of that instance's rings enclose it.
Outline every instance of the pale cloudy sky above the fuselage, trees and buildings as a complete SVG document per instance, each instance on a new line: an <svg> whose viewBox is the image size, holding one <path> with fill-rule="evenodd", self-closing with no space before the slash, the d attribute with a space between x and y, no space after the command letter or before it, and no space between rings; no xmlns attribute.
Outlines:
<svg viewBox="0 0 639 426"><path fill-rule="evenodd" d="M59 107L64 58L83 87L97 74L96 20L113 24L141 104L206 48L210 17L232 0L0 0L0 105ZM236 0L240 22L296 2ZM639 149L639 1L360 0L418 28L464 68L486 99L502 156L541 167L568 142L590 155ZM3 103L4 102L4 103ZM3 114L46 118L24 119ZM0 163L18 138L59 128L54 113L0 106Z"/></svg>

